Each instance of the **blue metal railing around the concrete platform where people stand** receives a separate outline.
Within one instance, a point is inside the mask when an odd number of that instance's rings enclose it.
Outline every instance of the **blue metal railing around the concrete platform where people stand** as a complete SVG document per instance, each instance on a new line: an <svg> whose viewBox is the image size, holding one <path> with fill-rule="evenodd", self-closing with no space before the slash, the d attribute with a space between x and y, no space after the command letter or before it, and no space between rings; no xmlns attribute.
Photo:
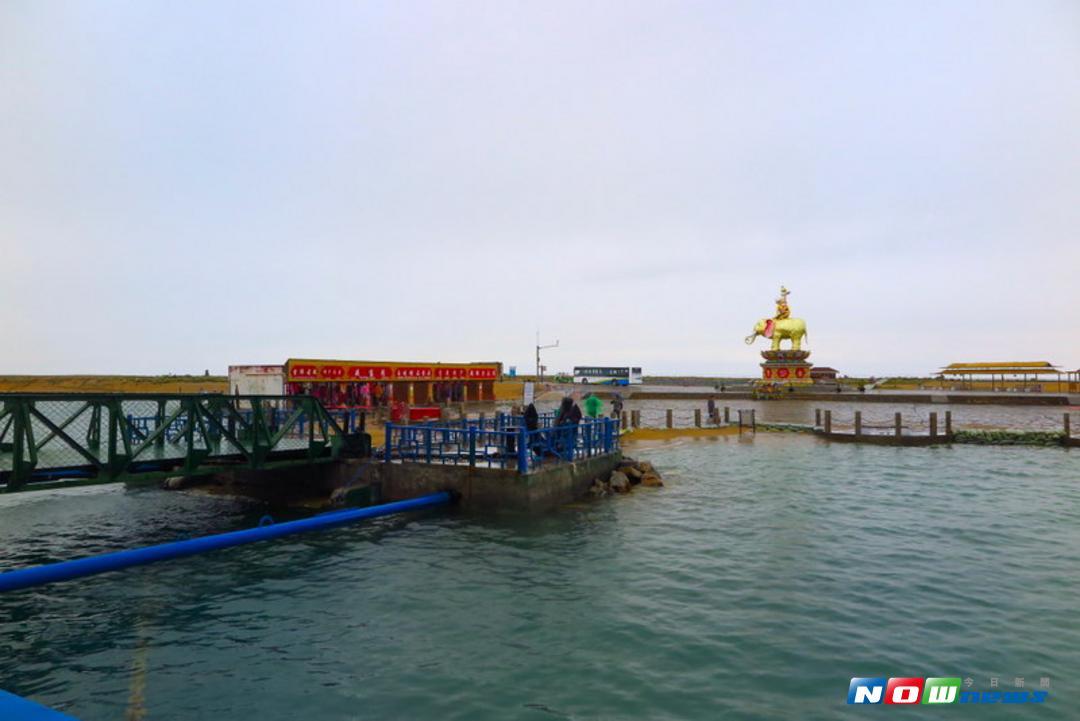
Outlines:
<svg viewBox="0 0 1080 721"><path fill-rule="evenodd" d="M504 414L503 414L504 416ZM383 461L514 468L525 474L619 450L619 421L586 419L528 431L521 417L451 423L387 423Z"/></svg>

